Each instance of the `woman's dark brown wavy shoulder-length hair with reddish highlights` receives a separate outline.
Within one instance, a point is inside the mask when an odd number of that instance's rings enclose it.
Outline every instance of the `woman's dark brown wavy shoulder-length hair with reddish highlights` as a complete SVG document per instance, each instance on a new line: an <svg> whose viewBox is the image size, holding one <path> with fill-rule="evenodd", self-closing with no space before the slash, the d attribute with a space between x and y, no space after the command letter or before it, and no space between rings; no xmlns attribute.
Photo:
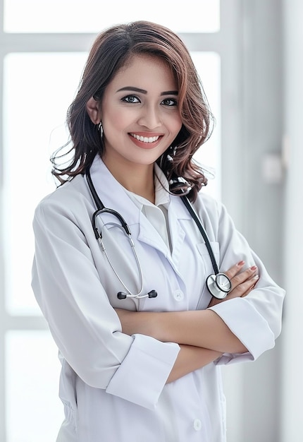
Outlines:
<svg viewBox="0 0 303 442"><path fill-rule="evenodd" d="M183 178L177 186L171 187L171 191L182 193L191 189L189 196L194 201L207 180L192 155L209 138L213 116L185 44L171 30L147 21L116 25L98 35L89 52L78 93L68 108L70 141L67 145L71 142L72 147L68 153L62 153L62 148L56 150L51 157L52 174L63 184L75 175L85 174L97 153L102 157L104 145L97 125L89 118L86 105L91 97L102 100L113 76L136 54L160 57L171 68L178 85L178 108L183 124L157 164L168 181ZM69 164L60 166L59 162L70 154L73 156Z"/></svg>

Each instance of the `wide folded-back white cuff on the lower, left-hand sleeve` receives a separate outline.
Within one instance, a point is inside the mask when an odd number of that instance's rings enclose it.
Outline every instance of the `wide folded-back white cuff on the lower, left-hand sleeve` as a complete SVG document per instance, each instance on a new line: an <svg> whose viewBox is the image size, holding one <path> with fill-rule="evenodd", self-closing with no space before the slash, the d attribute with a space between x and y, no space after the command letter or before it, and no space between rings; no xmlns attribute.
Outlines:
<svg viewBox="0 0 303 442"><path fill-rule="evenodd" d="M106 393L154 409L171 373L180 347L145 335L134 335L123 363L111 378Z"/></svg>

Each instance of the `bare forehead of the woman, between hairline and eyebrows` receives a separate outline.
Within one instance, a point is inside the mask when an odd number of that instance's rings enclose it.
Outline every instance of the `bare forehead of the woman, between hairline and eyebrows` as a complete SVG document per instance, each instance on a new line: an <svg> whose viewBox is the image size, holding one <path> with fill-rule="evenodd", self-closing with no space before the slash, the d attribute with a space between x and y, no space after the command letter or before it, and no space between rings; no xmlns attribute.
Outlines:
<svg viewBox="0 0 303 442"><path fill-rule="evenodd" d="M141 88L144 88L144 85L149 85L149 87L158 85L160 88L164 87L164 90L171 90L171 88L177 90L177 82L166 61L159 56L149 54L131 56L109 83L113 87L121 84L136 85ZM166 89L168 86L169 88Z"/></svg>

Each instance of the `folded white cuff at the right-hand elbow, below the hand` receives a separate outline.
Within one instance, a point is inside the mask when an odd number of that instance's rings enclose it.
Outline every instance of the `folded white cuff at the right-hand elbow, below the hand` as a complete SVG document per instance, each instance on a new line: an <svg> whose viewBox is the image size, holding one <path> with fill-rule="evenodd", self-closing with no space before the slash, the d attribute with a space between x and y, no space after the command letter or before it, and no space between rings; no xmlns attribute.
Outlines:
<svg viewBox="0 0 303 442"><path fill-rule="evenodd" d="M230 299L211 307L210 310L217 313L233 334L245 345L252 355L252 360L274 347L273 331L247 299Z"/></svg>

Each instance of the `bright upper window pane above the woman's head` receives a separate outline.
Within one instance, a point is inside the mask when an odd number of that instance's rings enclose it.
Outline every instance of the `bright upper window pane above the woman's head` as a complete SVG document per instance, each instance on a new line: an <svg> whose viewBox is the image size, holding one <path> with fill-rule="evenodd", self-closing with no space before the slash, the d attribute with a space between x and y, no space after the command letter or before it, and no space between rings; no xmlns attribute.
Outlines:
<svg viewBox="0 0 303 442"><path fill-rule="evenodd" d="M4 7L5 32L99 32L135 20L161 23L175 32L217 32L220 28L218 0L187 0L186 8L162 0L153 0L149 8L140 0L116 0L112 4L96 0L5 0Z"/></svg>

